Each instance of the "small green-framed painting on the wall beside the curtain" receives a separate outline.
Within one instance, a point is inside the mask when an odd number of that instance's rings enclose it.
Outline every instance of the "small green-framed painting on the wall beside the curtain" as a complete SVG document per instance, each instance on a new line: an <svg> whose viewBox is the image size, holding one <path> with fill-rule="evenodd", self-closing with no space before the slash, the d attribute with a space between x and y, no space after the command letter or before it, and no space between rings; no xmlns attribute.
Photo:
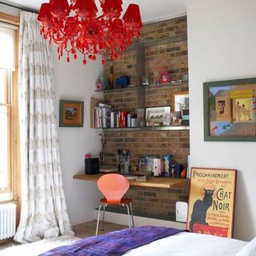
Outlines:
<svg viewBox="0 0 256 256"><path fill-rule="evenodd" d="M59 102L59 126L82 127L84 102L60 100Z"/></svg>

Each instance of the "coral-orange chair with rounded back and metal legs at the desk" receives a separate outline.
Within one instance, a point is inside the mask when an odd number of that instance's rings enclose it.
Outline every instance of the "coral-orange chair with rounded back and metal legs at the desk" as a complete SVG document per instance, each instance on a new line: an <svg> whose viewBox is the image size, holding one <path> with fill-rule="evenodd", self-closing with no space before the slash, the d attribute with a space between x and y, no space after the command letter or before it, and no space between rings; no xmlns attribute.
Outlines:
<svg viewBox="0 0 256 256"><path fill-rule="evenodd" d="M130 228L130 213L131 213L132 222L134 226L134 214L131 206L131 202L133 201L133 199L122 198L124 194L126 194L126 191L129 190L129 187L130 187L130 182L128 178L126 178L121 174L104 174L101 178L98 179L97 186L98 186L98 190L102 192L105 198L100 199L100 202L102 202L102 204L98 208L96 235L98 235L98 223L99 223L102 206L103 206L102 230L104 226L105 207L113 206L113 205L126 206L129 228ZM130 206L130 209L129 209L129 206Z"/></svg>

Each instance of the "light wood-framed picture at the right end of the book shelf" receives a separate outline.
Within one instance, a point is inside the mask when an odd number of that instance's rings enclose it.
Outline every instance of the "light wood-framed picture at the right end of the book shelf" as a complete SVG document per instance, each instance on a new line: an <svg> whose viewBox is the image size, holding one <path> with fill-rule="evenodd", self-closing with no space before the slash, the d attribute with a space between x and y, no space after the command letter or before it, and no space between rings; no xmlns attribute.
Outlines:
<svg viewBox="0 0 256 256"><path fill-rule="evenodd" d="M188 91L182 91L171 95L171 110L182 111L190 109L190 98Z"/></svg>

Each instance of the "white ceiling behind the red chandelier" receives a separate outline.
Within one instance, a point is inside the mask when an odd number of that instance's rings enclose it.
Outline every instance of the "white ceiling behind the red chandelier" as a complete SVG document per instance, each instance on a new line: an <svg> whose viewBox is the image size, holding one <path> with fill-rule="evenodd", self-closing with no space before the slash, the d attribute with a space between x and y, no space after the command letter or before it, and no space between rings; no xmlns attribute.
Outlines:
<svg viewBox="0 0 256 256"><path fill-rule="evenodd" d="M138 4L140 6L142 22L152 22L186 14L186 6L197 1L198 0L123 0L122 9L126 10L130 3ZM49 0L8 0L3 2L14 3L18 6L39 10L42 2L49 2ZM95 2L98 3L99 1L95 0Z"/></svg>

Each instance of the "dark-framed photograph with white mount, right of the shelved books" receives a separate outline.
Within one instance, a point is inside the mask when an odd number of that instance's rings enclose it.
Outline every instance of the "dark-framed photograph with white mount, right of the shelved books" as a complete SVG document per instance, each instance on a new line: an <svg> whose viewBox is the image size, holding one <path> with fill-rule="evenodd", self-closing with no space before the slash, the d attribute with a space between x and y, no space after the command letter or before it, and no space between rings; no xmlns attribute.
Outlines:
<svg viewBox="0 0 256 256"><path fill-rule="evenodd" d="M169 126L170 106L146 108L146 126Z"/></svg>

